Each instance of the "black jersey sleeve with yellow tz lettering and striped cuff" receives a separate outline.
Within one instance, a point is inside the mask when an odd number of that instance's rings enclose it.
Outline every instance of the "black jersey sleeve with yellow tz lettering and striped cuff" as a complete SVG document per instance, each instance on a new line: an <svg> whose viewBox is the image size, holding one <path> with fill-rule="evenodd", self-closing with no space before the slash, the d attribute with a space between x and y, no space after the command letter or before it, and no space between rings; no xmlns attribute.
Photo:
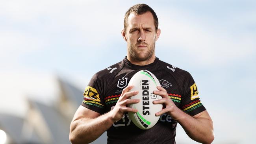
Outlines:
<svg viewBox="0 0 256 144"><path fill-rule="evenodd" d="M101 82L96 74L91 78L83 92L82 106L91 109L97 113L105 113L105 102L103 97Z"/></svg>

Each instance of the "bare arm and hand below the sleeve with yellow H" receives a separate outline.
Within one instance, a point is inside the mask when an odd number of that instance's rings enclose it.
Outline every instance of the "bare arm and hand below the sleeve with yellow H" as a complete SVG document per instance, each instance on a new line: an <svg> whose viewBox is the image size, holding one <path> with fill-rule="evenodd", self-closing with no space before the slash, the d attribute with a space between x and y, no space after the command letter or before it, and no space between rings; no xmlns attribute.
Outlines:
<svg viewBox="0 0 256 144"><path fill-rule="evenodd" d="M173 101L169 98L167 92L162 87L157 87L158 90L154 91L154 94L158 94L163 98L156 100L154 104L165 104L165 109L162 109L156 116L159 116L163 113L169 114L174 120L177 120L178 123L186 131L187 135L203 144L210 144L214 139L213 133L213 122L207 111L203 111L195 116L190 116L189 114L184 113L180 110Z"/></svg>

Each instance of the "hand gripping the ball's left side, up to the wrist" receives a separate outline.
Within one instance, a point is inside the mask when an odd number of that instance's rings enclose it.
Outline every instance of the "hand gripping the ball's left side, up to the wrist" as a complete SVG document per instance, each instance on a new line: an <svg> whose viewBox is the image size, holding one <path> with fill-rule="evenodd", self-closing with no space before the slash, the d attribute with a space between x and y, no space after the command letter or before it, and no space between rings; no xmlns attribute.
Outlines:
<svg viewBox="0 0 256 144"><path fill-rule="evenodd" d="M126 112L136 113L138 111L137 109L127 107L128 104L139 102L139 99L129 99L130 97L135 96L139 93L138 91L129 92L129 90L131 90L132 87L133 86L130 85L122 90L122 94L119 97L119 100L117 101L115 107L109 112L110 118L111 120L113 120L113 122L120 120Z"/></svg>

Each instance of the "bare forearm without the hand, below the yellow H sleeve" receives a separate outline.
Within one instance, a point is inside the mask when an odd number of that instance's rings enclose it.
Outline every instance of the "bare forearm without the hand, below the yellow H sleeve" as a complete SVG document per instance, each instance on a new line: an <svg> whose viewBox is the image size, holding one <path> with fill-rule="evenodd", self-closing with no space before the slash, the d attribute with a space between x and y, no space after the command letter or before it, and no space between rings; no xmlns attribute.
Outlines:
<svg viewBox="0 0 256 144"><path fill-rule="evenodd" d="M181 117L177 121L191 139L203 144L210 144L213 141L213 122L211 120L207 118L193 118L183 111L180 111L180 113Z"/></svg>

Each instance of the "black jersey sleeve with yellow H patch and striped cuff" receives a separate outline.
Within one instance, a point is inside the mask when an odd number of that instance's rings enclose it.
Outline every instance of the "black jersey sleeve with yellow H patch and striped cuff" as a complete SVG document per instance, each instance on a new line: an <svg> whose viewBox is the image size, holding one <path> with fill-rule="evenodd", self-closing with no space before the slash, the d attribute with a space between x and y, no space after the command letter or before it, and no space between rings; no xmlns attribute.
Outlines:
<svg viewBox="0 0 256 144"><path fill-rule="evenodd" d="M183 90L184 92L181 102L182 111L191 116L194 116L206 110L200 101L197 85L189 73L185 78Z"/></svg>

